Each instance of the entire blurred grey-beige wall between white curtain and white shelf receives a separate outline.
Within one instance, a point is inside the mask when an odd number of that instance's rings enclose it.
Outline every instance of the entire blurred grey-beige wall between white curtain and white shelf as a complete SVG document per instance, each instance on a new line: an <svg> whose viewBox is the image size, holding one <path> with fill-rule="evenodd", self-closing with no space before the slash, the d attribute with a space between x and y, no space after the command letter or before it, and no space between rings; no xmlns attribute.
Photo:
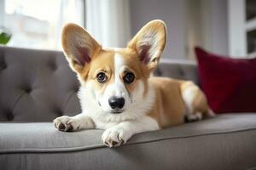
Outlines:
<svg viewBox="0 0 256 170"><path fill-rule="evenodd" d="M228 54L227 0L131 0L131 35L149 20L168 28L162 57L194 59L195 46Z"/></svg>

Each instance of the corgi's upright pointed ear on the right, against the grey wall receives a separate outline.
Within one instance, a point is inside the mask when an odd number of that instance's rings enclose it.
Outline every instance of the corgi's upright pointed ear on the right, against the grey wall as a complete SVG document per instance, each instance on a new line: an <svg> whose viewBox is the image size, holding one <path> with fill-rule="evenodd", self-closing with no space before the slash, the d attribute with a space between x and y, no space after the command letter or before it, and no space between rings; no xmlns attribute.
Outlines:
<svg viewBox="0 0 256 170"><path fill-rule="evenodd" d="M162 20L152 20L137 32L127 48L136 51L139 59L149 71L158 65L160 55L166 45L166 24Z"/></svg>

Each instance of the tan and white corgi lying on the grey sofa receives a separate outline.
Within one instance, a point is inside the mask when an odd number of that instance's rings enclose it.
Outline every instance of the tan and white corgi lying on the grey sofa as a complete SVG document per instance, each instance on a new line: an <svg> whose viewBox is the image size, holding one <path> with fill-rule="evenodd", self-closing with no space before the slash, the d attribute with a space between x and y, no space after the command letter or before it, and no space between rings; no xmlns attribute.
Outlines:
<svg viewBox="0 0 256 170"><path fill-rule="evenodd" d="M63 28L61 41L81 84L82 113L55 118L60 131L104 129L102 142L115 147L136 133L212 114L205 94L193 82L151 77L166 45L166 25L161 20L148 22L126 48L102 48L75 24Z"/></svg>

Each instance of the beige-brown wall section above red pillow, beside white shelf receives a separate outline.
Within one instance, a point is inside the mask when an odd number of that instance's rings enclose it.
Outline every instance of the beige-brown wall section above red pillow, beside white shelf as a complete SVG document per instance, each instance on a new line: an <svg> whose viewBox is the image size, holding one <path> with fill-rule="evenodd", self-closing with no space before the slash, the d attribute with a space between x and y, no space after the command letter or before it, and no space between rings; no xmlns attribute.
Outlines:
<svg viewBox="0 0 256 170"><path fill-rule="evenodd" d="M227 0L187 0L187 8L189 57L195 46L229 54Z"/></svg>

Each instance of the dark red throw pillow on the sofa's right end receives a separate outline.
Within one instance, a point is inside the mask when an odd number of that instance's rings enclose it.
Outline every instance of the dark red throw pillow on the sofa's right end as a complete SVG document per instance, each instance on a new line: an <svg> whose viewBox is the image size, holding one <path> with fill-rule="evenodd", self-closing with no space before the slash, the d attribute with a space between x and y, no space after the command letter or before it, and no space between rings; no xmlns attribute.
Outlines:
<svg viewBox="0 0 256 170"><path fill-rule="evenodd" d="M231 59L195 48L201 87L215 113L256 112L256 59Z"/></svg>

